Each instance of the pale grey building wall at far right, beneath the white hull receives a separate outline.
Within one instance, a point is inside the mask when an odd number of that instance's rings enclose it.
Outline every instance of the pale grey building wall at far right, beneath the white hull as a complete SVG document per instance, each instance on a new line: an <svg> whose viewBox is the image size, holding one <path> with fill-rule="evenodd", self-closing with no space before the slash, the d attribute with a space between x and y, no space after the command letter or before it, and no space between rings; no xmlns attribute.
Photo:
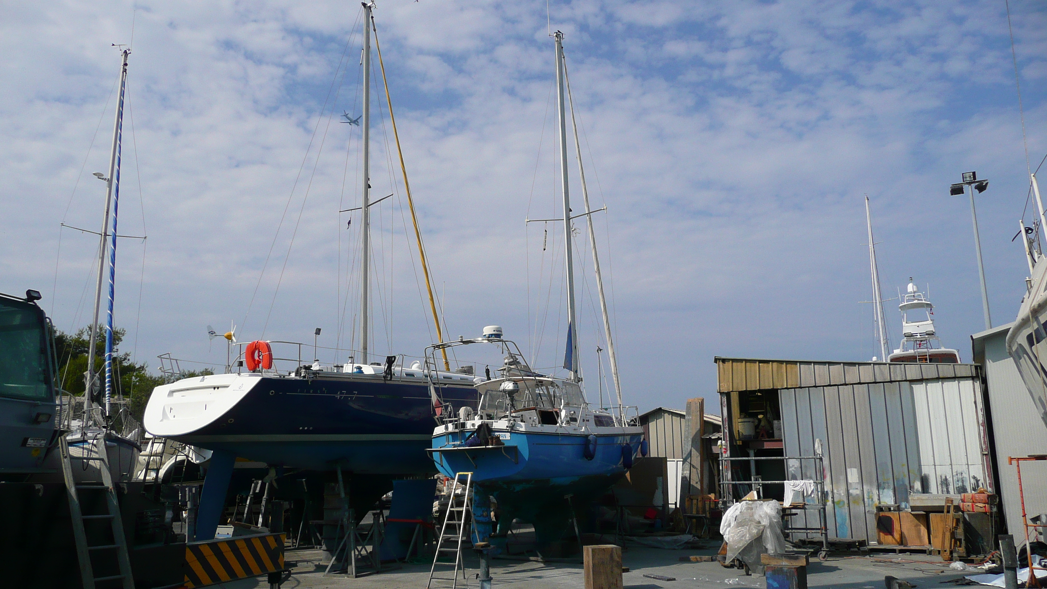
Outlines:
<svg viewBox="0 0 1047 589"><path fill-rule="evenodd" d="M997 487L1007 521L1007 532L1025 539L1022 504L1018 494L1018 471L1007 464L1009 456L1028 456L1047 452L1047 428L1040 419L1040 410L1032 402L1025 383L1018 374L1015 361L1007 355L1007 328L1002 326L987 334L974 335L975 357L983 356L988 383L988 403L993 415L996 463L1000 473ZM979 350L979 347L982 347ZM981 352L981 353L979 353ZM1047 514L1047 463L1022 464L1022 488L1025 509L1029 516Z"/></svg>

